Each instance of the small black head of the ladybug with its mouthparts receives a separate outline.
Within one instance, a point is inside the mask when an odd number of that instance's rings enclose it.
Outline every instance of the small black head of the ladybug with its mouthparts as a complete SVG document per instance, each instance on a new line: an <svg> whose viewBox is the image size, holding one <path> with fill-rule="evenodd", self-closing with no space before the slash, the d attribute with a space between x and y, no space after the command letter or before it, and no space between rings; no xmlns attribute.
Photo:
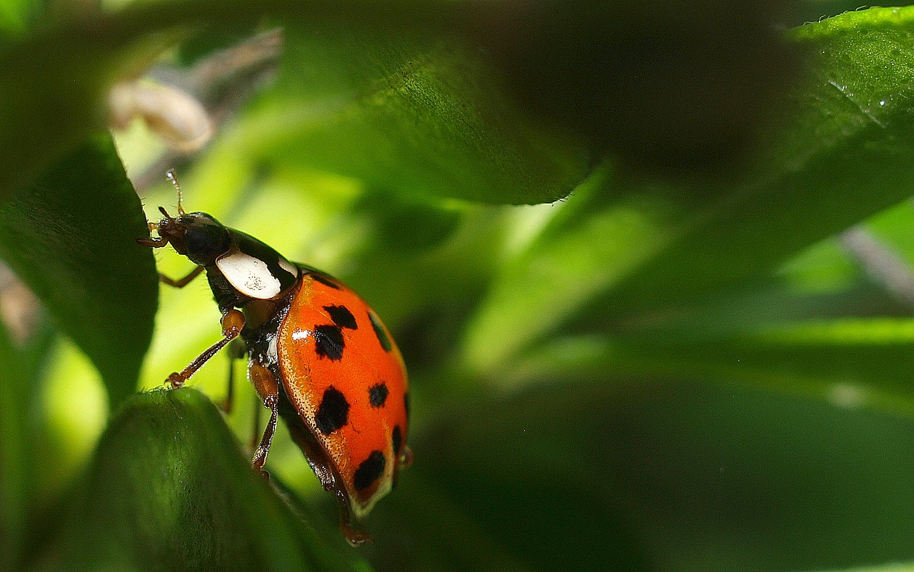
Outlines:
<svg viewBox="0 0 914 572"><path fill-rule="evenodd" d="M178 217L170 216L165 208L159 207L162 220L152 225L158 230L159 238L139 240L144 246L161 248L171 244L178 254L183 254L199 266L210 266L231 247L228 228L206 213L180 212Z"/></svg>

